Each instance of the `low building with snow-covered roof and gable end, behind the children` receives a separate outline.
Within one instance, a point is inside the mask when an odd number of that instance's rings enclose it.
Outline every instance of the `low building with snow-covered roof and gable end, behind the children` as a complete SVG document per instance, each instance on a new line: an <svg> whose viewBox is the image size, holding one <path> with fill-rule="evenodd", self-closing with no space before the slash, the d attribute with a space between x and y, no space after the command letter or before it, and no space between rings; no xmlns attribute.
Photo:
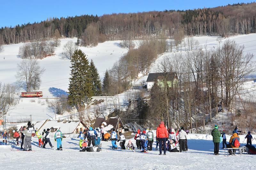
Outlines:
<svg viewBox="0 0 256 170"><path fill-rule="evenodd" d="M83 121L79 120L50 120L47 119L42 122L36 122L34 125L35 128L38 128L38 131L43 131L44 129L51 129L52 133L55 133L60 128L62 134L76 134L79 131L84 131L86 125Z"/></svg>

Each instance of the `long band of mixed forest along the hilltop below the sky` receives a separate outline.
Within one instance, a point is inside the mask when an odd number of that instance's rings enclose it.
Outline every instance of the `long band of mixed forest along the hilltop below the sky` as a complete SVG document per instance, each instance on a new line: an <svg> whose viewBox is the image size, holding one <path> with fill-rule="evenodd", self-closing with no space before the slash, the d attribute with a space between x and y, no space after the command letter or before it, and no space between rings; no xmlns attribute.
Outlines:
<svg viewBox="0 0 256 170"><path fill-rule="evenodd" d="M116 39L141 39L149 35L220 35L255 32L256 3L233 4L186 11L149 11L106 14L98 17L82 15L50 18L0 29L0 44L15 44L35 39L49 40L56 32L62 37L79 37L82 45ZM93 38L92 38L93 37Z"/></svg>

